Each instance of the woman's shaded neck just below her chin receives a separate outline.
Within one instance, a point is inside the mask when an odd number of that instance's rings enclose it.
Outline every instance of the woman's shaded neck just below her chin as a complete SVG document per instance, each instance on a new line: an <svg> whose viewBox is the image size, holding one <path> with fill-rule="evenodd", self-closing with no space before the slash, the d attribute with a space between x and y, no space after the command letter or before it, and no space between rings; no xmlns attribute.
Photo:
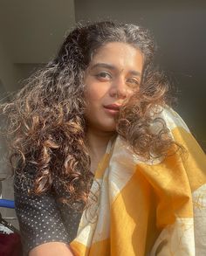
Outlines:
<svg viewBox="0 0 206 256"><path fill-rule="evenodd" d="M106 146L115 132L102 132L93 128L88 128L86 132L89 154L99 158L105 154Z"/></svg>

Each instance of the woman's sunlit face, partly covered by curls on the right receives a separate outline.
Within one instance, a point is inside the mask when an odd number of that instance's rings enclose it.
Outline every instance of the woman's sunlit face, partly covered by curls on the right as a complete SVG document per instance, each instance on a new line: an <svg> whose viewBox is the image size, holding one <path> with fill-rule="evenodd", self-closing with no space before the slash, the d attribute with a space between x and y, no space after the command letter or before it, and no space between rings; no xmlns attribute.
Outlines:
<svg viewBox="0 0 206 256"><path fill-rule="evenodd" d="M107 43L93 55L85 73L89 128L111 132L120 107L141 83L143 56L132 45Z"/></svg>

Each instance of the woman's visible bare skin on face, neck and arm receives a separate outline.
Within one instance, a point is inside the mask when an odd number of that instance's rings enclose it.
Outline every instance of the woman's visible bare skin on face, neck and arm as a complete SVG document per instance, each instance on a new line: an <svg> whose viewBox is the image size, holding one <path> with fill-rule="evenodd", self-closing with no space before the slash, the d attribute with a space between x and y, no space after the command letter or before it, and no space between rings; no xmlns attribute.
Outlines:
<svg viewBox="0 0 206 256"><path fill-rule="evenodd" d="M104 64L104 65L103 65ZM110 138L115 134L115 118L105 106L122 105L139 89L143 57L131 45L119 42L100 47L86 69L86 120L87 142L91 156L91 171L94 173L105 154ZM30 256L72 256L69 247L60 242L45 243L31 250Z"/></svg>

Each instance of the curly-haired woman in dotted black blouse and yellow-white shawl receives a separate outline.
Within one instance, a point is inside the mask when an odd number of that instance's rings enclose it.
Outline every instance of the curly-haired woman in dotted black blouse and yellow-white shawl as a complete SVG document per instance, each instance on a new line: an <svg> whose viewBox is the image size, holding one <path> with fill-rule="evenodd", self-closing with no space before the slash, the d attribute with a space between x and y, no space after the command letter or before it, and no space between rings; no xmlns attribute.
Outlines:
<svg viewBox="0 0 206 256"><path fill-rule="evenodd" d="M205 252L192 228L205 159L166 105L153 57L139 26L79 25L2 107L25 253L195 255L195 243Z"/></svg>

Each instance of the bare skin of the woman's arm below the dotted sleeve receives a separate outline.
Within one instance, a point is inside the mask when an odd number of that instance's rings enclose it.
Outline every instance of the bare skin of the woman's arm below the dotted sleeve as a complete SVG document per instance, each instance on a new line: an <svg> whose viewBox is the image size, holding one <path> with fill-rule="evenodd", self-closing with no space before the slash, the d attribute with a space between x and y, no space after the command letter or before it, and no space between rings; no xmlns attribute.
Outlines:
<svg viewBox="0 0 206 256"><path fill-rule="evenodd" d="M31 250L29 256L73 256L69 245L59 242L46 243Z"/></svg>

